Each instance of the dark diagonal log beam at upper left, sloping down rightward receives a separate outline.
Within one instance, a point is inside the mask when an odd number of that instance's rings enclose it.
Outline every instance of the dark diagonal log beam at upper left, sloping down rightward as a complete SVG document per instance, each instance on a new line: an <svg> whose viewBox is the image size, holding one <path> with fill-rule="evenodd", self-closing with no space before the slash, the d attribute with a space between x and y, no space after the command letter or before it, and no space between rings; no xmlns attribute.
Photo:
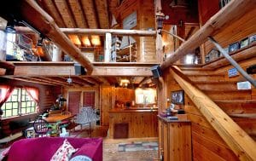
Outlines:
<svg viewBox="0 0 256 161"><path fill-rule="evenodd" d="M17 4L19 6L16 7L11 5L11 3L7 3L7 5L8 6L5 7L10 9L10 13L18 12L28 24L36 28L38 32L43 33L46 37L49 37L49 39L55 42L67 55L70 55L73 60L76 60L81 66L84 66L88 74L92 72L93 66L90 60L82 55L81 51L63 32L61 32L52 17L41 9L35 1L19 1L19 4Z"/></svg>

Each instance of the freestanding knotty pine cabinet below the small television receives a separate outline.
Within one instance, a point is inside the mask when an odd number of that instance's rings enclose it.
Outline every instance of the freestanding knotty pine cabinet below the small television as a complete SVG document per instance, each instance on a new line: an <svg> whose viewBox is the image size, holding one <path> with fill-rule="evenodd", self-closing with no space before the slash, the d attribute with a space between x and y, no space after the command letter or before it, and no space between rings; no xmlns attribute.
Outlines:
<svg viewBox="0 0 256 161"><path fill-rule="evenodd" d="M190 161L191 123L159 118L159 156L162 161Z"/></svg>

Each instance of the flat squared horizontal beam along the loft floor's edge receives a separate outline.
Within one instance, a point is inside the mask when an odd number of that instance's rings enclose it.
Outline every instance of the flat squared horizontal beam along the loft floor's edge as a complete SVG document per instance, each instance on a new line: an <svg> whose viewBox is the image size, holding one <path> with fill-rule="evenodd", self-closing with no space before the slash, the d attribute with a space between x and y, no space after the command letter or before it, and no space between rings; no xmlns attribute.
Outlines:
<svg viewBox="0 0 256 161"><path fill-rule="evenodd" d="M28 62L12 61L15 64L15 76L61 77L75 75L73 62ZM93 63L94 71L90 76L152 76L150 63ZM70 72L70 73L69 73ZM81 77L90 77L84 75Z"/></svg>

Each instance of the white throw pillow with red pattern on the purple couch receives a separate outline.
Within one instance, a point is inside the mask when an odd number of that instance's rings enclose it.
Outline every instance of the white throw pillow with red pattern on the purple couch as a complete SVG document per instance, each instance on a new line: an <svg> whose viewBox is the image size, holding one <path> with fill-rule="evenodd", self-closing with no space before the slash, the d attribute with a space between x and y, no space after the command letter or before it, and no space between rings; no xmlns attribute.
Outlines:
<svg viewBox="0 0 256 161"><path fill-rule="evenodd" d="M50 161L68 161L73 152L78 149L73 148L73 146L65 139L61 147L55 152Z"/></svg>

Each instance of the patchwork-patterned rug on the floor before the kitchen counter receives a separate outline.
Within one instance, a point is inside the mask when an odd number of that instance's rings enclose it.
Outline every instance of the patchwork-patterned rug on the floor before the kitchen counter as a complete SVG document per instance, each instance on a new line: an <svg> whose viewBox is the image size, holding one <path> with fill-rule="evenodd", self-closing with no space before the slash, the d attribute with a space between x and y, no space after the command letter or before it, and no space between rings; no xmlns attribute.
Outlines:
<svg viewBox="0 0 256 161"><path fill-rule="evenodd" d="M131 143L119 143L119 152L135 152L135 151L150 151L158 150L158 142L131 142Z"/></svg>

